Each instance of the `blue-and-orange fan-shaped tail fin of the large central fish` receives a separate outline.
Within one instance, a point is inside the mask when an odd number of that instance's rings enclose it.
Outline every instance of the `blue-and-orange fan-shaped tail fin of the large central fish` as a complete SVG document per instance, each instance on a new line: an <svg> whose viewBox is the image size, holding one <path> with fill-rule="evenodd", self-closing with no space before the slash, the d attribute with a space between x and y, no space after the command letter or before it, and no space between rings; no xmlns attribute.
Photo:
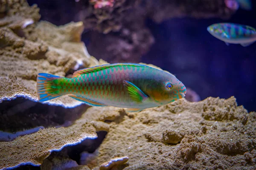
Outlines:
<svg viewBox="0 0 256 170"><path fill-rule="evenodd" d="M63 79L66 78L47 73L39 73L36 80L39 102L45 102L47 100L62 96L61 80Z"/></svg>

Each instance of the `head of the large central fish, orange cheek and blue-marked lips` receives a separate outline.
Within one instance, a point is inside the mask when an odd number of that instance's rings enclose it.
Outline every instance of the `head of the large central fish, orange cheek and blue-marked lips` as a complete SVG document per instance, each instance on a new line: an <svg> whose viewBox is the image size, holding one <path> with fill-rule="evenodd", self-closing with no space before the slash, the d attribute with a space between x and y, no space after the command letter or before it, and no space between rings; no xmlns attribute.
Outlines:
<svg viewBox="0 0 256 170"><path fill-rule="evenodd" d="M185 97L186 87L174 75L166 73L147 86L147 94L158 105L166 105Z"/></svg>

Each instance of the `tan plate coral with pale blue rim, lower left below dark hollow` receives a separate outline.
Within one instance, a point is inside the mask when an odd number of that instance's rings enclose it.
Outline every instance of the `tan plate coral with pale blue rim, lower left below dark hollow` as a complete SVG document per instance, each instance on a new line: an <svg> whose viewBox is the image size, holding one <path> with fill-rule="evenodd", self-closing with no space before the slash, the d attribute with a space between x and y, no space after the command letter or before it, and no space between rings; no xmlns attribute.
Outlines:
<svg viewBox="0 0 256 170"><path fill-rule="evenodd" d="M80 119L68 127L44 128L30 135L17 137L11 142L0 142L0 169L21 164L38 166L52 151L97 138L92 122L102 121L104 124L104 121L118 119L121 115L122 111L111 107L103 110L88 108Z"/></svg>

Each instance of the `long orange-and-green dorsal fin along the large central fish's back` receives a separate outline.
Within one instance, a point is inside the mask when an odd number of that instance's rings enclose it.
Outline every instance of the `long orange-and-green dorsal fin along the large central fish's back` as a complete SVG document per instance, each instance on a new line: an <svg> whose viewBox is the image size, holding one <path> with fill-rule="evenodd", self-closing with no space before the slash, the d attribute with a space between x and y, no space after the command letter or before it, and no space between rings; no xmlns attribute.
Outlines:
<svg viewBox="0 0 256 170"><path fill-rule="evenodd" d="M147 65L134 64L134 63L115 63L115 64L97 65L97 66L94 66L94 67L82 68L82 69L80 69L78 71L75 71L73 76L72 76L72 78L79 77L82 74L87 74L87 73L91 73L91 72L101 71L101 70L105 70L107 68L112 68L112 67L122 66L122 65L148 67Z"/></svg>

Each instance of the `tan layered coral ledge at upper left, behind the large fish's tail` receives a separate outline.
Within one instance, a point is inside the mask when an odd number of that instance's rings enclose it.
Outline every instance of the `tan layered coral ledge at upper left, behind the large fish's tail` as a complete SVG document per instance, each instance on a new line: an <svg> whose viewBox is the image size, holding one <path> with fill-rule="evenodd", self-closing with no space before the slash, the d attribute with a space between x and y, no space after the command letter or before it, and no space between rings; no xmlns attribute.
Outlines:
<svg viewBox="0 0 256 170"><path fill-rule="evenodd" d="M67 76L78 68L101 64L88 54L81 42L83 23L60 27L45 21L37 23L38 8L29 7L26 1L16 5L8 3L5 10L6 17L0 19L0 102L18 96L37 101L35 80L40 72ZM29 19L22 18L28 15ZM35 22L31 23L34 28L27 26L31 19ZM17 30L23 31L25 27L30 27L29 34L20 37ZM67 96L47 103L64 107L81 104Z"/></svg>

